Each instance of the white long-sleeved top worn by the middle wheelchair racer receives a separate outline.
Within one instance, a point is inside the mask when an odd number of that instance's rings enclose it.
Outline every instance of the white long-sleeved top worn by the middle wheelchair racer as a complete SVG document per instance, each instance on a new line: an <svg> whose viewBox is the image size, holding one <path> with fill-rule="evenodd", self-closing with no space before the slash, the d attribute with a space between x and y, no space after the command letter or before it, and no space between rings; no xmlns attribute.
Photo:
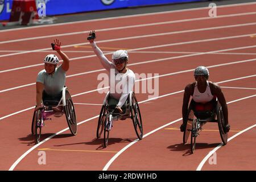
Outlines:
<svg viewBox="0 0 256 182"><path fill-rule="evenodd" d="M110 84L110 96L119 100L117 106L122 107L129 96L129 93L133 91L135 83L134 72L127 69L126 73L119 73L115 68L115 65L110 62L96 43L90 43L94 53L100 58L101 64L109 72L109 84Z"/></svg>

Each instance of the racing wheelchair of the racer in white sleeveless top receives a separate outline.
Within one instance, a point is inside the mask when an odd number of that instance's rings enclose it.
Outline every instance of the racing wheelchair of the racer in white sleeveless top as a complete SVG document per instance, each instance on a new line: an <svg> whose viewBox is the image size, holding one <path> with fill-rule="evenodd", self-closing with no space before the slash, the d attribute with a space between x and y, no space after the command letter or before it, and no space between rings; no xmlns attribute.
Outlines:
<svg viewBox="0 0 256 182"><path fill-rule="evenodd" d="M225 145L228 142L228 133L224 130L224 115L217 98L216 101L214 101L214 109L212 111L195 111L194 108L195 101L192 100L188 107L187 123L185 123L185 130L183 133L183 144L187 143L189 134L191 133L191 153L193 154L196 149L196 137L199 136L200 131L203 130L202 126L207 122L217 122L221 140Z"/></svg>

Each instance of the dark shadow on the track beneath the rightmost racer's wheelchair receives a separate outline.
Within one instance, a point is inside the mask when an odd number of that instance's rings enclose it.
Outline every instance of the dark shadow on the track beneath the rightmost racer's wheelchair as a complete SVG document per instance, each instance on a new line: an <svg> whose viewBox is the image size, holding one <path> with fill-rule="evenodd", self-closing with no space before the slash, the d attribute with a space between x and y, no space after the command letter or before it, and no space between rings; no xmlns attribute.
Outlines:
<svg viewBox="0 0 256 182"><path fill-rule="evenodd" d="M218 146L220 143L196 143L196 150L204 149L204 148L215 148ZM179 143L179 144L174 144L171 146L168 146L167 148L170 148L171 151L184 151L185 153L183 156L188 156L191 155L191 148L190 148L190 143ZM196 152L196 151L195 151Z"/></svg>

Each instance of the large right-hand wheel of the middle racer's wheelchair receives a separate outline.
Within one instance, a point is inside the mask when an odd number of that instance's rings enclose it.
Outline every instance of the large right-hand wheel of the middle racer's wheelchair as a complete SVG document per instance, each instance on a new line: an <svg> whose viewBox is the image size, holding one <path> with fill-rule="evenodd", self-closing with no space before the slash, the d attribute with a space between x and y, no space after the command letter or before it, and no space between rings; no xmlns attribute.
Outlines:
<svg viewBox="0 0 256 182"><path fill-rule="evenodd" d="M142 119L141 119L141 111L139 110L139 104L137 102L137 98L135 97L134 93L131 96L130 112L131 112L131 119L133 120L135 133L137 134L137 137L141 140L143 138L143 125L142 125Z"/></svg>

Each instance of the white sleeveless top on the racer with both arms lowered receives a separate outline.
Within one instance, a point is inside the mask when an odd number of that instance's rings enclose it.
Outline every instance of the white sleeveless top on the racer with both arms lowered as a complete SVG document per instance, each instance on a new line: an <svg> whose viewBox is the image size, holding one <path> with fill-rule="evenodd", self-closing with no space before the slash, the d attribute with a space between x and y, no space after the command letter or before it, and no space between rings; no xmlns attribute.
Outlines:
<svg viewBox="0 0 256 182"><path fill-rule="evenodd" d="M199 103L207 103L209 101L211 101L213 99L213 95L210 92L210 86L209 86L209 82L207 81L207 88L205 89L204 93L200 93L198 88L197 88L197 82L195 85L195 89L194 89L194 93L193 93L193 100L195 102L199 102Z"/></svg>

